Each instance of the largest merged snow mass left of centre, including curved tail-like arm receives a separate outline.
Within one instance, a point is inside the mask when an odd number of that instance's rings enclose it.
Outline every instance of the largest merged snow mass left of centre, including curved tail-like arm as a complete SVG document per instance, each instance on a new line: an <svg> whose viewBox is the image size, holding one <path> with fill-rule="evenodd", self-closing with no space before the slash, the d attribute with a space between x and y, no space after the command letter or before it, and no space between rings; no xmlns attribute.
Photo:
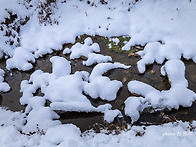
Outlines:
<svg viewBox="0 0 196 147"><path fill-rule="evenodd" d="M111 100L111 97L114 99L121 82L111 81L109 78L101 75L109 69L129 68L129 66L120 63L101 63L93 69L89 76L89 73L86 71L77 71L71 74L70 61L63 57L53 56L50 58L50 61L52 63L52 73L36 70L31 75L29 81L24 80L21 82L20 91L23 95L20 102L23 105L27 104L25 113L28 114L27 123L23 127L24 132L37 131L37 126L46 130L58 125L60 122L58 120L54 121L54 119L58 119L59 116L54 110L100 112L104 114L104 119L108 122L112 122L115 117L121 116L119 110L111 110L112 106L110 104L94 107L83 92L92 91L93 87L91 85L87 87L87 85L91 84L88 81L90 79L96 81L98 76L99 79L107 79L102 80L99 83L100 85L98 85L100 87L106 86L105 88L107 89L103 92L100 91L100 88L93 89L93 91L101 93L101 96L105 96L106 98L104 98L107 100ZM34 96L39 89L44 96ZM46 101L50 102L49 106L45 106Z"/></svg>

